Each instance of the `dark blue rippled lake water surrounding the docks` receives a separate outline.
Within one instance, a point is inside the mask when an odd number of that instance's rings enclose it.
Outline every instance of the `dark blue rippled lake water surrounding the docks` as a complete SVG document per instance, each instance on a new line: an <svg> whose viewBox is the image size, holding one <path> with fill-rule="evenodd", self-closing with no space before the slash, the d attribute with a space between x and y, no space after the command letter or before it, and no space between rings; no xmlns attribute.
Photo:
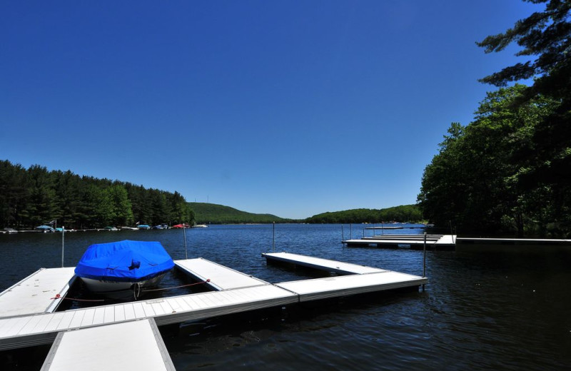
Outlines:
<svg viewBox="0 0 571 371"><path fill-rule="evenodd" d="M363 236L363 225L351 233ZM346 248L341 234L341 225L280 224L275 250L423 274L422 251ZM350 237L348 225L343 235ZM272 225L186 230L186 252L182 230L66 233L64 265L76 265L93 243L126 239L158 240L173 259L188 253L271 283L315 277L266 265L261 253L272 250ZM61 266L61 234L0 235L0 252L5 290L41 267ZM564 370L571 367L570 267L571 253L428 251L424 292L216 318L165 331L163 338L178 371ZM161 286L184 283L171 273ZM156 295L191 290L200 289ZM0 370L39 370L48 350L0 352Z"/></svg>

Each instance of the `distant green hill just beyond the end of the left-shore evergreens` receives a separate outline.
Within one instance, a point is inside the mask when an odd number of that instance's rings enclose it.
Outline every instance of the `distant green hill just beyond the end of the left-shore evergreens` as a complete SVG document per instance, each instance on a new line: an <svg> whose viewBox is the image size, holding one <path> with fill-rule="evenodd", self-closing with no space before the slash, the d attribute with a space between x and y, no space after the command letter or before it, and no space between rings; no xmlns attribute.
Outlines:
<svg viewBox="0 0 571 371"><path fill-rule="evenodd" d="M241 223L284 223L289 219L271 214L253 214L216 203L189 202L194 211L196 223L241 224Z"/></svg>

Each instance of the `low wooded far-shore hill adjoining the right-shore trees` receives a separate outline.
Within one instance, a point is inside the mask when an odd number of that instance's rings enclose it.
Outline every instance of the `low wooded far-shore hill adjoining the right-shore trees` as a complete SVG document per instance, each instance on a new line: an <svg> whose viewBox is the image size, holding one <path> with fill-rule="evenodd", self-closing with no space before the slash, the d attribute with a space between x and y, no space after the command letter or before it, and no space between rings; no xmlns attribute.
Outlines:
<svg viewBox="0 0 571 371"><path fill-rule="evenodd" d="M321 213L305 219L305 223L381 223L388 221L417 223L423 213L417 205L400 205L384 209L352 209Z"/></svg>

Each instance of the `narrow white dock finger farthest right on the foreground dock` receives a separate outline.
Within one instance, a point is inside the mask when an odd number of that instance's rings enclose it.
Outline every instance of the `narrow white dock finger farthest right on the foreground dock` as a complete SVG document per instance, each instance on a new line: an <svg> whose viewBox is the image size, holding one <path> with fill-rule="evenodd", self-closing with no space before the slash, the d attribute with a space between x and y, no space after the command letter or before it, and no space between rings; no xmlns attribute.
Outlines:
<svg viewBox="0 0 571 371"><path fill-rule="evenodd" d="M335 272L340 274L362 275L366 273L387 272L387 270L384 269L367 267L365 265L343 263L335 260L313 258L312 256L298 255L292 253L263 253L262 256L268 260L277 260L285 263L292 263L295 265L303 265L304 267L315 268L319 270L327 270L330 272Z"/></svg>

